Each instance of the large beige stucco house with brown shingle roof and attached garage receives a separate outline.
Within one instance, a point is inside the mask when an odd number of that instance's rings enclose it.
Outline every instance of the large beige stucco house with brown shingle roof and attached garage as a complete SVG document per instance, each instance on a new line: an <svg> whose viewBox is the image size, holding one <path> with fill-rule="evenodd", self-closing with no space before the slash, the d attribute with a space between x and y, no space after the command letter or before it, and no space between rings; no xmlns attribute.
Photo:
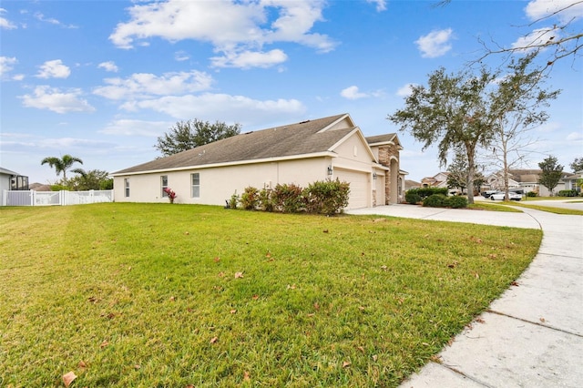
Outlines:
<svg viewBox="0 0 583 388"><path fill-rule="evenodd" d="M364 138L343 114L225 138L112 176L116 201L165 202L170 188L176 203L207 205L225 205L249 186L340 179L350 183L347 209L358 209L401 200L401 149L395 134Z"/></svg>

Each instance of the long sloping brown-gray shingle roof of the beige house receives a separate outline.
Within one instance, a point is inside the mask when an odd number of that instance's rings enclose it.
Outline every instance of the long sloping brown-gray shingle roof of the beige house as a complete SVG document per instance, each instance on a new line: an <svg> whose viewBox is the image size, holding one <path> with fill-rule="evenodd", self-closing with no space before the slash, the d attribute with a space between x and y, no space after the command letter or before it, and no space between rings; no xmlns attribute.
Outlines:
<svg viewBox="0 0 583 388"><path fill-rule="evenodd" d="M328 128L343 117L349 116L342 114L323 117L297 124L243 133L182 151L166 158L121 169L114 174L189 168L264 158L285 158L330 151L332 146L352 132L354 127L327 131L322 131L322 129Z"/></svg>

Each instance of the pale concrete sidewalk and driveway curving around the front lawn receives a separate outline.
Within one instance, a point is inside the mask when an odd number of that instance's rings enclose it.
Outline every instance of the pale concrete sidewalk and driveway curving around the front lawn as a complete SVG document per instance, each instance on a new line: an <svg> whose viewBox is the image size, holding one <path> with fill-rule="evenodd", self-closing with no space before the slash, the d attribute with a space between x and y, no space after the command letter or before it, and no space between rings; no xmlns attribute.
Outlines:
<svg viewBox="0 0 583 388"><path fill-rule="evenodd" d="M544 233L518 286L458 334L439 354L441 362L429 362L402 388L583 386L583 216L520 209L524 213L411 205L348 211Z"/></svg>

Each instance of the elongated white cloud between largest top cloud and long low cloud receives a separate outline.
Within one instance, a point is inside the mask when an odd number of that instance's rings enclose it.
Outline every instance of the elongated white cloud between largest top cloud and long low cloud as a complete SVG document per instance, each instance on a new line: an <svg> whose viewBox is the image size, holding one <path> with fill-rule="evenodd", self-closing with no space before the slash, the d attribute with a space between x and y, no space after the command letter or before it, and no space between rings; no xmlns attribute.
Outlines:
<svg viewBox="0 0 583 388"><path fill-rule="evenodd" d="M164 73L158 77L149 73L136 73L128 78L106 78L105 87L97 87L93 93L110 99L145 98L176 95L208 90L212 77L207 73Z"/></svg>

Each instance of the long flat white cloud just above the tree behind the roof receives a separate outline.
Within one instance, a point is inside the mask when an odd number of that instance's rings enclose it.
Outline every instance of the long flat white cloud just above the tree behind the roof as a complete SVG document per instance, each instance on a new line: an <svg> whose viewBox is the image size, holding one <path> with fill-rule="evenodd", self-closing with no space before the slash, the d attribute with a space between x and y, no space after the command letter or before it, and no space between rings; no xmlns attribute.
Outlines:
<svg viewBox="0 0 583 388"><path fill-rule="evenodd" d="M168 96L144 101L132 101L124 104L127 110L151 109L162 112L170 117L185 119L198 117L199 119L224 122L244 121L255 122L261 120L278 120L287 116L297 117L305 111L302 102L296 99L256 100L244 96L205 93L200 96Z"/></svg>

